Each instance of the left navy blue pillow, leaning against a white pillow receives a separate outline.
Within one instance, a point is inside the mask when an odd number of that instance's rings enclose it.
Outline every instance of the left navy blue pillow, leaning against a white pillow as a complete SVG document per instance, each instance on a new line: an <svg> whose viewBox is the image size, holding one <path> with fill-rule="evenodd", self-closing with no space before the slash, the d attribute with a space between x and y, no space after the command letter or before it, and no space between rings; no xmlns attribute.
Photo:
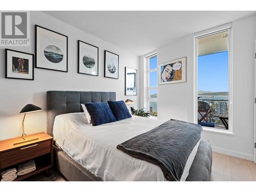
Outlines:
<svg viewBox="0 0 256 192"><path fill-rule="evenodd" d="M116 121L108 103L95 102L84 103L84 105L86 105L86 109L91 116L93 126Z"/></svg>

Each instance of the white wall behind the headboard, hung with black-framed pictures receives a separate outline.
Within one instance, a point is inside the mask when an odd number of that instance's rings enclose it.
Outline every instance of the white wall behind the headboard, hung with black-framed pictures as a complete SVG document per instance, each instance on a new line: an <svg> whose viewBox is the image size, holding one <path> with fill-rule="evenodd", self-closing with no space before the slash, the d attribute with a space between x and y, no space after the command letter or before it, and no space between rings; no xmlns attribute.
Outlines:
<svg viewBox="0 0 256 192"><path fill-rule="evenodd" d="M90 19L90 18L84 18ZM30 12L30 47L8 47L18 51L34 52L34 25L37 24L69 37L68 73L44 69L34 71L35 80L5 78L5 47L0 47L0 140L19 136L23 115L19 111L28 103L40 106L43 111L27 114L26 133L46 132L46 91L115 91L117 100L130 98L139 106L139 96L124 96L124 67L139 70L139 57L108 42L78 30L42 12ZM77 40L99 47L99 76L77 73ZM104 50L119 55L119 79L105 78ZM139 78L138 78L139 81ZM138 89L139 90L139 89ZM138 94L139 95L139 94Z"/></svg>

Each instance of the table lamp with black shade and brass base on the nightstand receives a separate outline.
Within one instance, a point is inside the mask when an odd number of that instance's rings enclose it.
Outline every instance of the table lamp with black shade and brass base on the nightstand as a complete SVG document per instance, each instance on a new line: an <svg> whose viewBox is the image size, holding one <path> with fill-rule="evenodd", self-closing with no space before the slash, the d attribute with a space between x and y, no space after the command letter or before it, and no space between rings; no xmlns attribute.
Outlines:
<svg viewBox="0 0 256 192"><path fill-rule="evenodd" d="M23 121L22 121L22 138L24 139L23 141L19 141L19 142L16 142L16 143L13 143L13 145L18 145L18 144L22 144L22 143L26 143L26 142L29 142L29 141L34 141L34 140L37 140L38 138L32 138L32 139L25 139L25 128L24 128L24 120L25 120L25 117L26 117L26 113L31 113L31 112L36 112L36 111L41 111L42 109L39 108L38 106L36 105L33 105L33 104L27 104L26 106L24 106L24 108L22 109L22 111L19 112L19 114L24 114L24 117L23 117Z"/></svg>

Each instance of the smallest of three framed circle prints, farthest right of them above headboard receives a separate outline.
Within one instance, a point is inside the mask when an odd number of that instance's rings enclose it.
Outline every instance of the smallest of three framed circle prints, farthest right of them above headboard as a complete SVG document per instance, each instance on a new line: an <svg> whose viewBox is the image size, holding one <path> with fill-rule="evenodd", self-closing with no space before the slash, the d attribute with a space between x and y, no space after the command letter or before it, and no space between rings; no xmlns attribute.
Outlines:
<svg viewBox="0 0 256 192"><path fill-rule="evenodd" d="M104 58L104 77L118 79L119 55L105 50Z"/></svg>

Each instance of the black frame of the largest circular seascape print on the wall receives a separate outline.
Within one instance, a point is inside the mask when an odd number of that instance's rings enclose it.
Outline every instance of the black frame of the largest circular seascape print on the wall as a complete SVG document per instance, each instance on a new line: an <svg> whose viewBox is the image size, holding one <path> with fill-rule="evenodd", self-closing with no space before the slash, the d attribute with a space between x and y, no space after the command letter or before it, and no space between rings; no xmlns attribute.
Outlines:
<svg viewBox="0 0 256 192"><path fill-rule="evenodd" d="M67 38L67 50L66 50L66 53L67 53L67 61L66 61L66 65L67 65L67 68L66 68L66 71L63 71L63 70L56 70L56 69L49 69L49 68L43 68L43 67L38 67L37 66L37 28L42 28L42 29L45 29L45 30L48 30L48 31L50 31L50 32L53 32L53 33L56 33L56 34L58 34L58 35L61 35L61 36L64 36L64 37L66 37ZM38 68L38 69L46 69L46 70L52 70L52 71L60 71L60 72L66 72L66 73L68 73L68 55L69 55L69 52L68 52L68 50L69 50L69 47L68 47L68 41L69 41L69 39L68 39L68 36L67 35L63 35L63 34L61 34L61 33L58 33L58 32L56 32L56 31L53 31L53 30L50 30L50 29L47 29L47 28L45 28L45 27L41 27L41 26L39 26L39 25L35 25L35 68Z"/></svg>

